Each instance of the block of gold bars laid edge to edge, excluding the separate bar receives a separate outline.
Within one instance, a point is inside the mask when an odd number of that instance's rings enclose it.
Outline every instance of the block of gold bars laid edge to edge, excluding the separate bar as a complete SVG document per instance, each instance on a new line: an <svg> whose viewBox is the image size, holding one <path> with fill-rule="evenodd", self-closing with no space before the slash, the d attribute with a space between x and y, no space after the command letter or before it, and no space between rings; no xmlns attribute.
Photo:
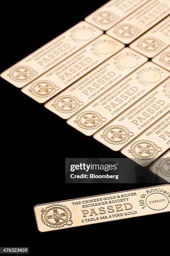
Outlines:
<svg viewBox="0 0 170 256"><path fill-rule="evenodd" d="M169 14L170 0L110 0L1 77L142 166L167 159Z"/></svg>

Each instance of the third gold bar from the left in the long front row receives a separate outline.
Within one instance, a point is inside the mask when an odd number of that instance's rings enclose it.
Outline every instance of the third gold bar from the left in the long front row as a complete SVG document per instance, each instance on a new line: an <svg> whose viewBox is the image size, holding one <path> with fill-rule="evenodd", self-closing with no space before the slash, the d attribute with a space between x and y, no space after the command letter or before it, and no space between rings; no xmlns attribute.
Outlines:
<svg viewBox="0 0 170 256"><path fill-rule="evenodd" d="M61 118L70 118L147 60L126 47L52 98L45 108Z"/></svg>

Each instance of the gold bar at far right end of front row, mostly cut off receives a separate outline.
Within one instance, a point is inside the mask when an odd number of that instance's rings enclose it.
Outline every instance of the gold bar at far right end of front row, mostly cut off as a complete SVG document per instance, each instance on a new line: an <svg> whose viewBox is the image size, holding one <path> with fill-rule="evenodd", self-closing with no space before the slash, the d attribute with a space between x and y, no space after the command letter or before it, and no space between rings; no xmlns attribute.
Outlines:
<svg viewBox="0 0 170 256"><path fill-rule="evenodd" d="M150 166L150 171L170 183L170 151Z"/></svg>

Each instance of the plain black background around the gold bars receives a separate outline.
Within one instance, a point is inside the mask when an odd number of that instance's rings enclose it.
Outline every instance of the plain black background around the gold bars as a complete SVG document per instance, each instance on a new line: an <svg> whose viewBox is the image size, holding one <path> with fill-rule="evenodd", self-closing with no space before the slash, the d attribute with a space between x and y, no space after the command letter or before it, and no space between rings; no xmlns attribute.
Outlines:
<svg viewBox="0 0 170 256"><path fill-rule="evenodd" d="M83 20L105 2L3 3L0 71ZM59 249L62 253L68 250L89 254L89 246L130 253L135 250L134 244L145 252L150 238L157 241L157 234L162 234L168 225L168 213L40 233L33 211L37 204L154 184L65 184L65 157L116 158L121 154L79 133L5 80L0 79L0 86L0 246L30 246L31 254L57 253ZM156 248L157 244L151 246Z"/></svg>

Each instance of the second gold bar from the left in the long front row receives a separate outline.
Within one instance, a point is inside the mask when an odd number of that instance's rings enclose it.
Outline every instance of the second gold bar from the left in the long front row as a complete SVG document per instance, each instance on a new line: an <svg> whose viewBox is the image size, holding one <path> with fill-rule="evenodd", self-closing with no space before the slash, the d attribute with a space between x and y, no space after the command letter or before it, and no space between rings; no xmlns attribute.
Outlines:
<svg viewBox="0 0 170 256"><path fill-rule="evenodd" d="M124 46L110 36L102 35L25 86L22 92L37 102L44 103Z"/></svg>

